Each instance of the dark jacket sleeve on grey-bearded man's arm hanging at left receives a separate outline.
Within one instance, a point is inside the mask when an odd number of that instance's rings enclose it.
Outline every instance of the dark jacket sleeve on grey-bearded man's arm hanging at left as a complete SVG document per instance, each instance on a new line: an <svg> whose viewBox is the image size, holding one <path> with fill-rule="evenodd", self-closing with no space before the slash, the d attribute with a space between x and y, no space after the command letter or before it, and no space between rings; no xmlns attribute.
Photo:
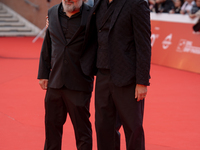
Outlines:
<svg viewBox="0 0 200 150"><path fill-rule="evenodd" d="M37 78L49 79L50 71L51 71L51 38L49 30L47 28L41 49Z"/></svg>

